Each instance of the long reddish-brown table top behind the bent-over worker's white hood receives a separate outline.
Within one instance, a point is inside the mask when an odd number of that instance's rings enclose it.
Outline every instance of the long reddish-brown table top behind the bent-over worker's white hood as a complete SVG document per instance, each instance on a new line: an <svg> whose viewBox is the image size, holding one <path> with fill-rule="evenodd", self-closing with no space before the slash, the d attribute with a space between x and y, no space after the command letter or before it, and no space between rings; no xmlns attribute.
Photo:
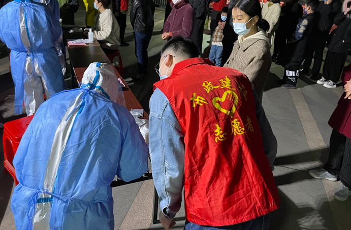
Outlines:
<svg viewBox="0 0 351 230"><path fill-rule="evenodd" d="M131 89L127 86L116 68L112 65L110 60L105 55L104 51L100 46L83 46L83 47L72 47L68 49L70 53L71 64L76 74L78 82L82 81L84 71L87 69L92 62L107 63L112 66L114 73L117 78L120 78L126 87L123 87L123 93L125 98L125 105L128 110L132 108L143 108L137 98L134 96ZM144 119L148 119L147 113L144 111Z"/></svg>

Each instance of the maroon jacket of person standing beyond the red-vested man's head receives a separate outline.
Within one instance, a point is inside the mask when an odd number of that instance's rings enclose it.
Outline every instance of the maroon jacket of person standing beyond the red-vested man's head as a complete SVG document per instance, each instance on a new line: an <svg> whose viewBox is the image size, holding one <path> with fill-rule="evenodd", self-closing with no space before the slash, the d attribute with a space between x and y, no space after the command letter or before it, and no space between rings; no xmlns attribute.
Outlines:
<svg viewBox="0 0 351 230"><path fill-rule="evenodd" d="M164 25L164 32L170 32L170 36L181 36L189 39L194 27L194 10L187 0L180 0L174 5L171 14Z"/></svg>

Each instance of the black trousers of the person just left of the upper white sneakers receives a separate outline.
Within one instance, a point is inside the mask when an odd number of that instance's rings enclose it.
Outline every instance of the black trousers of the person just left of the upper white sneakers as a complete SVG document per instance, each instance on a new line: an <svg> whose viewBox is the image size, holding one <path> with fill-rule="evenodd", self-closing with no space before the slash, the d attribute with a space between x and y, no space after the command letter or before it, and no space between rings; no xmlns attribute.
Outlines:
<svg viewBox="0 0 351 230"><path fill-rule="evenodd" d="M306 47L306 57L303 63L303 69L308 71L313 61L312 74L318 74L321 70L323 61L323 51L326 47L329 32L317 33L311 37Z"/></svg>

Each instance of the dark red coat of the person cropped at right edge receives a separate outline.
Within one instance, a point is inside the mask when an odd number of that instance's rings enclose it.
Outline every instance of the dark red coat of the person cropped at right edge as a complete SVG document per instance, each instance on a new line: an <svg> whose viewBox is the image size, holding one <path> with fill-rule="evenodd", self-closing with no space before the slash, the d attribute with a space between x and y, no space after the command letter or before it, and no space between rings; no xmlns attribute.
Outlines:
<svg viewBox="0 0 351 230"><path fill-rule="evenodd" d="M342 85L351 80L351 64L346 66L341 74ZM351 138L351 100L344 99L343 93L328 124L339 133Z"/></svg>

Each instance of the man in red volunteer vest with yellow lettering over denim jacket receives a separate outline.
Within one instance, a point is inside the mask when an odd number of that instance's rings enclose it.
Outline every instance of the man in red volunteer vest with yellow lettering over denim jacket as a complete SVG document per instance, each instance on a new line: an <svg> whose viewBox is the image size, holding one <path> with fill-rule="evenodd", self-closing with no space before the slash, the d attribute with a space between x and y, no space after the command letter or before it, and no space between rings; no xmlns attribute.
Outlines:
<svg viewBox="0 0 351 230"><path fill-rule="evenodd" d="M198 55L175 37L156 69L149 148L161 223L175 224L184 187L184 229L268 229L279 206L275 136L246 76Z"/></svg>

